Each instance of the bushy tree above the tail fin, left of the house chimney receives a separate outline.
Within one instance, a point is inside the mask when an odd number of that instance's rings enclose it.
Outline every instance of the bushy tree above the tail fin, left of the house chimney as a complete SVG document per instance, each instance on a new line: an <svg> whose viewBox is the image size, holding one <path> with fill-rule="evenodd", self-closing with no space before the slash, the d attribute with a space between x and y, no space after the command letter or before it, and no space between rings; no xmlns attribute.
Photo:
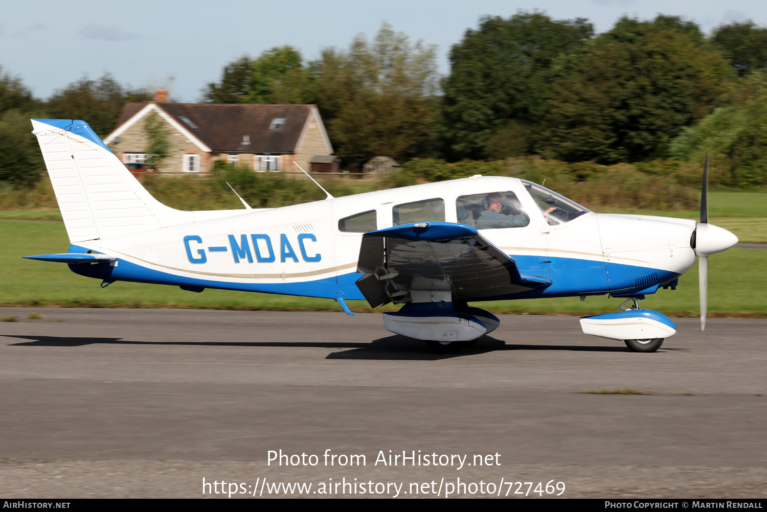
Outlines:
<svg viewBox="0 0 767 512"><path fill-rule="evenodd" d="M151 99L148 91L127 89L106 73L98 80L84 77L57 90L46 109L54 118L84 120L103 138L114 130L125 103Z"/></svg>

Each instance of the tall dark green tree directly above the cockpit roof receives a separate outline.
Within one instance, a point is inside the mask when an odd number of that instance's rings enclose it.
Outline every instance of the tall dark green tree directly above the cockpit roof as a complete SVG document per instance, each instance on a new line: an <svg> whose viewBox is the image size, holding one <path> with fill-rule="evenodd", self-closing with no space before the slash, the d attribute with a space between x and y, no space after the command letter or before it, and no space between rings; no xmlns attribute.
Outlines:
<svg viewBox="0 0 767 512"><path fill-rule="evenodd" d="M519 138L535 122L552 63L593 33L584 18L555 21L525 11L507 19L488 16L467 30L450 51L442 84L446 153L479 159L525 152L528 145Z"/></svg>

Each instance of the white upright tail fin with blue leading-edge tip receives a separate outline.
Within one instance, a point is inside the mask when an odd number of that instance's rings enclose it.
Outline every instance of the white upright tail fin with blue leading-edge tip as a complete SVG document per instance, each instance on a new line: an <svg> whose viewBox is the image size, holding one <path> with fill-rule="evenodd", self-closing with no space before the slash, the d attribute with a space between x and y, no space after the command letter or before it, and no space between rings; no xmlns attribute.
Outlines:
<svg viewBox="0 0 767 512"><path fill-rule="evenodd" d="M71 243L193 222L146 192L84 121L31 121Z"/></svg>

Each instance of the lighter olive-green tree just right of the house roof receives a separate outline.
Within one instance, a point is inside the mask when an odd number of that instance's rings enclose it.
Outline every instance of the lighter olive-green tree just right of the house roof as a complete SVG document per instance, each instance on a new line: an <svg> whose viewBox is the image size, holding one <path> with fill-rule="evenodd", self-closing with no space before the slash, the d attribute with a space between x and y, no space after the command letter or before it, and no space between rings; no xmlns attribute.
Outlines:
<svg viewBox="0 0 767 512"><path fill-rule="evenodd" d="M436 119L435 52L384 24L373 41L357 36L346 51L328 48L313 63L318 105L347 166L426 150Z"/></svg>

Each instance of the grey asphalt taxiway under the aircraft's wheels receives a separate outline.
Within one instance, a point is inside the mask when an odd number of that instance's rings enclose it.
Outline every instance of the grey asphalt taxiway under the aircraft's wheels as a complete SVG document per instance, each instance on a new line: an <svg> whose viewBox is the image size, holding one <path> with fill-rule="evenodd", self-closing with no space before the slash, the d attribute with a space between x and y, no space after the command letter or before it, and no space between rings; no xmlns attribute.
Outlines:
<svg viewBox="0 0 767 512"><path fill-rule="evenodd" d="M33 312L44 318L25 320ZM584 335L577 317L508 315L470 350L439 356L379 314L8 315L20 321L0 323L5 496L456 477L563 481L563 497L767 496L767 320L709 319L701 333L698 319L673 319L676 336L644 354ZM367 464L268 465L279 449ZM499 454L500 465L374 464L389 450Z"/></svg>

